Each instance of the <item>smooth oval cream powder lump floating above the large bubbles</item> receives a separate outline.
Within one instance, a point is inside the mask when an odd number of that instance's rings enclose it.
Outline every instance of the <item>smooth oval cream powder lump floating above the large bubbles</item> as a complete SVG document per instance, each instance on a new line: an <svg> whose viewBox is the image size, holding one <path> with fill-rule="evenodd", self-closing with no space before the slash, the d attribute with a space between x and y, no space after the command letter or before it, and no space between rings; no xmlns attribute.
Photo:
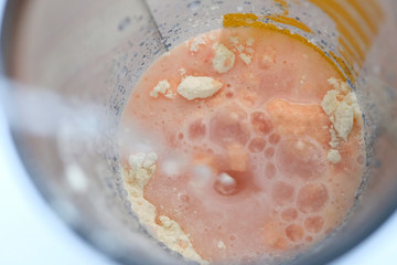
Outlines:
<svg viewBox="0 0 397 265"><path fill-rule="evenodd" d="M186 76L178 86L178 93L184 98L192 100L207 98L222 88L223 84L206 76Z"/></svg>

